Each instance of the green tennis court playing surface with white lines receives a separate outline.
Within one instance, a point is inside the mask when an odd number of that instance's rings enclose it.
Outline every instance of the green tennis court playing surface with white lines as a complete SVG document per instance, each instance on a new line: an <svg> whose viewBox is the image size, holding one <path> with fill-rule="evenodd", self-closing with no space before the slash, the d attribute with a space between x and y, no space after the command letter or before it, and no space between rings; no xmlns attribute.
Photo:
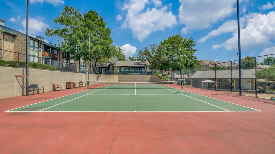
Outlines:
<svg viewBox="0 0 275 154"><path fill-rule="evenodd" d="M9 112L229 112L259 111L166 85L100 88L8 110ZM127 88L125 88L127 87Z"/></svg>

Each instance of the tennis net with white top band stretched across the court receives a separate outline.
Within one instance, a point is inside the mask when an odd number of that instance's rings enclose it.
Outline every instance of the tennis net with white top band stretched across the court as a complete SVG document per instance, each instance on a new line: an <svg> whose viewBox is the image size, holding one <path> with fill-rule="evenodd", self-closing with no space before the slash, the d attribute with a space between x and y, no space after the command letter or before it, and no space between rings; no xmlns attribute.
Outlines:
<svg viewBox="0 0 275 154"><path fill-rule="evenodd" d="M108 81L88 81L87 88L93 89L163 89L163 88L183 88L181 81L162 82L108 82Z"/></svg>

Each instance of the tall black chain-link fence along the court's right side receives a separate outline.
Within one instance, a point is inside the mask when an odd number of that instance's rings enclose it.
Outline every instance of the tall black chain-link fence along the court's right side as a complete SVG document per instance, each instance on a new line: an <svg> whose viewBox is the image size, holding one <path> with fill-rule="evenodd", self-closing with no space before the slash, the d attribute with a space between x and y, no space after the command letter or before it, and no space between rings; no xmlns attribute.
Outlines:
<svg viewBox="0 0 275 154"><path fill-rule="evenodd" d="M239 61L215 62L181 70L185 86L239 94ZM180 70L172 72L180 80ZM275 54L241 60L241 94L275 100Z"/></svg>

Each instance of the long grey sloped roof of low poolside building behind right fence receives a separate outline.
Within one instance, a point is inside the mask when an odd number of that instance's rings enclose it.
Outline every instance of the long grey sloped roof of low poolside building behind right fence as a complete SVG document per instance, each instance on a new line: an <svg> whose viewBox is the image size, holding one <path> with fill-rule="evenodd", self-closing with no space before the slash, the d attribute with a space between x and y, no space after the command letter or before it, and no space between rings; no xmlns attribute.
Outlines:
<svg viewBox="0 0 275 154"><path fill-rule="evenodd" d="M197 71L196 78L215 78L215 70L211 71ZM195 78L193 74L190 78ZM255 78L255 69L242 69L241 78ZM217 70L216 78L231 78L231 70ZM239 70L232 70L232 78L239 78Z"/></svg>

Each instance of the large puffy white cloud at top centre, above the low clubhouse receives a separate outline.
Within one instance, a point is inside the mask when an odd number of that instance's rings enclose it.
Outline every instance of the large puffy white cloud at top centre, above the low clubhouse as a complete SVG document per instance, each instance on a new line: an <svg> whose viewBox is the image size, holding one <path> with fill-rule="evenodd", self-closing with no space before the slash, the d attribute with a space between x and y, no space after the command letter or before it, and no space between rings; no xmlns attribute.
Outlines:
<svg viewBox="0 0 275 154"><path fill-rule="evenodd" d="M160 4L153 1L154 4ZM131 29L133 36L143 41L154 31L163 31L165 28L176 25L176 16L168 11L167 6L160 9L149 8L149 0L135 1L130 0L124 4L123 10L127 11L126 19L121 28Z"/></svg>

